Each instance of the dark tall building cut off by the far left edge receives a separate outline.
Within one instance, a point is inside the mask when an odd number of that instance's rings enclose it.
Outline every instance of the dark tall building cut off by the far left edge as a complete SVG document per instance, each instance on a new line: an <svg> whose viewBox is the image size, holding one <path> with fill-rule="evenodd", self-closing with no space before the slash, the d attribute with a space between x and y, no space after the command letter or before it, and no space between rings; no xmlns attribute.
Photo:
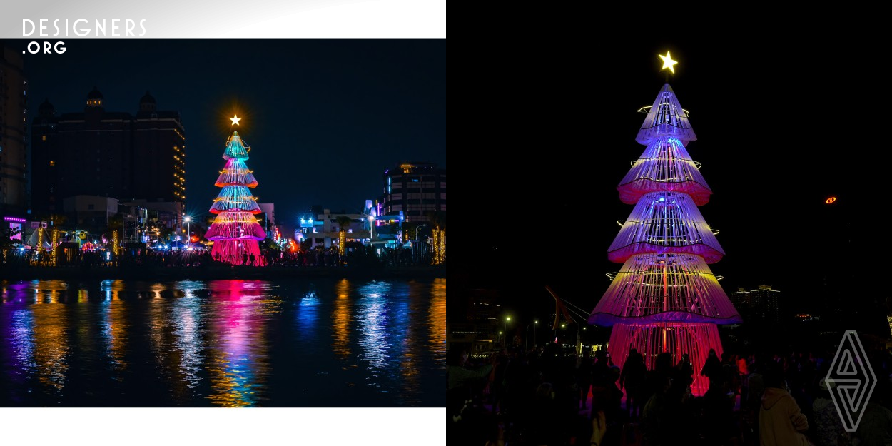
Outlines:
<svg viewBox="0 0 892 446"><path fill-rule="evenodd" d="M21 54L0 42L0 215L17 218L27 214L27 87Z"/></svg>

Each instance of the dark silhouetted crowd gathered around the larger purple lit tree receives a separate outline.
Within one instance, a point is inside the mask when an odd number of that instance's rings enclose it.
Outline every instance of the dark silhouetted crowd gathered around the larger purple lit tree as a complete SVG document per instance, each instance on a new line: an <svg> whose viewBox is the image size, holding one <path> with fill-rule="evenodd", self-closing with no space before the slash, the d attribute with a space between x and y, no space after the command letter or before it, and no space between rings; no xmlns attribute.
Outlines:
<svg viewBox="0 0 892 446"><path fill-rule="evenodd" d="M686 354L648 360L632 349L615 364L607 351L578 355L555 343L476 359L453 349L447 438L468 446L892 445L892 350L871 351L878 384L851 433L823 379L832 355L710 351L691 364ZM708 381L699 396L697 376Z"/></svg>

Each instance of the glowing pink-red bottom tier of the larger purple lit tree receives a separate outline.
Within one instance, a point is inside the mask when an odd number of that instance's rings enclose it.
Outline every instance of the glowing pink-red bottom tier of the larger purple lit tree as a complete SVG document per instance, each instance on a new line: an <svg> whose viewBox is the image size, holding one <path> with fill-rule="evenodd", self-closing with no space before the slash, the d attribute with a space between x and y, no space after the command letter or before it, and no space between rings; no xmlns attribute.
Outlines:
<svg viewBox="0 0 892 446"><path fill-rule="evenodd" d="M702 396L709 388L709 379L700 376L709 349L722 357L722 341L715 324L660 323L644 325L616 324L610 333L610 357L620 368L623 367L629 350L635 348L644 356L648 370L654 368L657 355L668 351L673 356L673 367L688 353L694 368L694 383L690 391L694 396Z"/></svg>

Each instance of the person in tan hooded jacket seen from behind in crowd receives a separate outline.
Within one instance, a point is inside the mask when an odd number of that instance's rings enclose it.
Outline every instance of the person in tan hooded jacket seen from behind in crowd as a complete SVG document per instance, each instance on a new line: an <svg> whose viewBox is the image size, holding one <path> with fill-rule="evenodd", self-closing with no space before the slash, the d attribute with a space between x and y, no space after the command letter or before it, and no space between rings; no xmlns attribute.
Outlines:
<svg viewBox="0 0 892 446"><path fill-rule="evenodd" d="M764 385L762 407L759 409L761 445L809 446L804 434L808 430L808 420L785 389L780 370L766 370Z"/></svg>

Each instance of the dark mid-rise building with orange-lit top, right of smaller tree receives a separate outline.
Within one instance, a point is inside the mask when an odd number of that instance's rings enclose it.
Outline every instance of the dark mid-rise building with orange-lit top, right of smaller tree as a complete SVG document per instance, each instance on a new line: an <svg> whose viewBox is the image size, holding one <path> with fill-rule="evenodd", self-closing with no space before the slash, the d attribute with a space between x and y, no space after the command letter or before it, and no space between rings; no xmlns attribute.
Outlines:
<svg viewBox="0 0 892 446"><path fill-rule="evenodd" d="M424 223L427 213L446 211L446 169L431 162L403 162L384 170L384 191L378 214L400 211L406 222Z"/></svg>

